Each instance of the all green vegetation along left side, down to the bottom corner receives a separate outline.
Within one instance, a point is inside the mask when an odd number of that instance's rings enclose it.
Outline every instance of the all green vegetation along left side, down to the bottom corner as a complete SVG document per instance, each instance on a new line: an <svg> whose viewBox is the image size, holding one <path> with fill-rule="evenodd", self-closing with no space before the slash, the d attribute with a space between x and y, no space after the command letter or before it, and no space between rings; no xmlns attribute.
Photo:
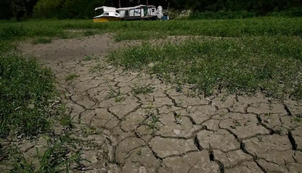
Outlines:
<svg viewBox="0 0 302 173"><path fill-rule="evenodd" d="M64 113L54 82L51 70L35 59L10 52L0 54L1 171L9 171L8 166L11 172L66 172L71 163L81 161L81 153L70 150L74 143L69 137L72 118ZM54 132L58 125L65 129L63 134ZM36 155L30 160L18 148L18 140L42 139L41 136L45 143L36 148ZM14 144L4 142L11 139Z"/></svg>

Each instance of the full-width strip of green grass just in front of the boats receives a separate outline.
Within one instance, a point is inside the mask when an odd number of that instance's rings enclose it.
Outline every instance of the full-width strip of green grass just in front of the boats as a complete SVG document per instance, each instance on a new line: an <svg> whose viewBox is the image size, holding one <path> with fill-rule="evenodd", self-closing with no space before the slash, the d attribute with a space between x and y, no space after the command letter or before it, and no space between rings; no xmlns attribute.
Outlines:
<svg viewBox="0 0 302 173"><path fill-rule="evenodd" d="M67 38L68 30L95 29L98 33L117 32L117 41L161 38L168 35L202 35L217 37L285 35L302 36L301 18L249 18L198 21L127 21L95 24L92 20L28 21L0 26L2 41L22 37ZM133 32L135 31L135 32ZM83 31L84 36L94 34ZM96 32L96 31L95 31ZM1 40L0 40L1 42Z"/></svg>

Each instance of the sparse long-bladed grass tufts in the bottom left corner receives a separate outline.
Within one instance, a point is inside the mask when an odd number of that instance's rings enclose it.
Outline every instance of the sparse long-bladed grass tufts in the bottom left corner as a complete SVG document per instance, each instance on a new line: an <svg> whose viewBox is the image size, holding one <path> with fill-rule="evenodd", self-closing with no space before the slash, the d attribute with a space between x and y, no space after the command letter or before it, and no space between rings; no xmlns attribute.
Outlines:
<svg viewBox="0 0 302 173"><path fill-rule="evenodd" d="M65 143L65 144L64 144ZM72 152L70 146L66 145L70 141L64 137L60 137L55 141L48 139L45 151L40 151L36 148L37 153L32 159L26 158L18 148L11 148L12 158L14 163L10 172L49 172L59 173L70 171L70 164L80 165L81 151Z"/></svg>

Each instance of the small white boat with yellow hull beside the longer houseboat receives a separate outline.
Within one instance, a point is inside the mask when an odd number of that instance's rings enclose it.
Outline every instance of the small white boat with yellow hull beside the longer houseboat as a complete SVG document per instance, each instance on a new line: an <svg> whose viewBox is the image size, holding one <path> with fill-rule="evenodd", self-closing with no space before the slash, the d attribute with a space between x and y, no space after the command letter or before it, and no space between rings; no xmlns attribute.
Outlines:
<svg viewBox="0 0 302 173"><path fill-rule="evenodd" d="M122 17L120 17L120 14L116 12L116 8L114 7L102 6L102 7L95 8L95 11L99 11L99 10L103 11L103 13L93 18L93 22L95 23L122 20Z"/></svg>

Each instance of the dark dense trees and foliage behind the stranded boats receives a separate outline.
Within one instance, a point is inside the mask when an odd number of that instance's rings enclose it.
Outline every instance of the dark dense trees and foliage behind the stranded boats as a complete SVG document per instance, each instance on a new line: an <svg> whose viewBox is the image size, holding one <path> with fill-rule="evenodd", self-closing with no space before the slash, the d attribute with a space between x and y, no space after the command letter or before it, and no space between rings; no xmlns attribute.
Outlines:
<svg viewBox="0 0 302 173"><path fill-rule="evenodd" d="M302 16L301 0L2 0L0 19L16 17L20 20L24 16L85 19L92 18L95 14L93 9L102 5L128 7L139 4L156 6L160 4L164 9L169 5L169 8L174 9L190 8L194 11L207 11L207 13L194 13L194 18L246 18L267 14ZM280 11L281 14L278 13ZM219 13L213 14L213 12Z"/></svg>

